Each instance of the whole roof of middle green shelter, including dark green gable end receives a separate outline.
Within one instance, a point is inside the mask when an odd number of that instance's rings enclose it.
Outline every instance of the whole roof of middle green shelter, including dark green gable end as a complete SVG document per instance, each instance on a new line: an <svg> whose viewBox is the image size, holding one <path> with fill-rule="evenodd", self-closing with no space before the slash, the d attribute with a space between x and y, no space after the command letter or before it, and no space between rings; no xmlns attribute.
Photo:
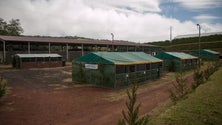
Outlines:
<svg viewBox="0 0 222 125"><path fill-rule="evenodd" d="M157 54L155 57L161 58L161 59L170 58L170 57L168 57L166 55L173 56L174 58L178 58L178 59L182 59L182 60L197 59L197 57L192 56L190 54L183 53L183 52L162 52L160 54Z"/></svg>

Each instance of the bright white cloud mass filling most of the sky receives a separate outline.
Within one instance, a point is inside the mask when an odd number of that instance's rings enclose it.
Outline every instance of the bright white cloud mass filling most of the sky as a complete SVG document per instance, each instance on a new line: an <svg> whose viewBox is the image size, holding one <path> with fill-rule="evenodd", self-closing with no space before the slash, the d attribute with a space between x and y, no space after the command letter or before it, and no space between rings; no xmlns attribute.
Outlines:
<svg viewBox="0 0 222 125"><path fill-rule="evenodd" d="M170 26L174 37L197 32L195 23L164 17L160 11L154 0L0 1L0 17L20 19L24 35L111 39L114 33L118 40L148 42L169 39ZM208 27L222 29L221 24Z"/></svg>

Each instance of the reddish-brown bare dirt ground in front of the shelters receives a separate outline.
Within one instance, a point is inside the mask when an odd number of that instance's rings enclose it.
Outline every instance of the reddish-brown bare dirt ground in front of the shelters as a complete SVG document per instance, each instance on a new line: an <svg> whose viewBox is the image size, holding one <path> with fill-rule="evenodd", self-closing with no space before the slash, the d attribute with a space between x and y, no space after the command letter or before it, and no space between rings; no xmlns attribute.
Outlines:
<svg viewBox="0 0 222 125"><path fill-rule="evenodd" d="M126 88L74 84L71 67L0 72L9 87L0 101L0 125L115 125L122 118ZM171 82L140 86L140 115L169 99Z"/></svg>

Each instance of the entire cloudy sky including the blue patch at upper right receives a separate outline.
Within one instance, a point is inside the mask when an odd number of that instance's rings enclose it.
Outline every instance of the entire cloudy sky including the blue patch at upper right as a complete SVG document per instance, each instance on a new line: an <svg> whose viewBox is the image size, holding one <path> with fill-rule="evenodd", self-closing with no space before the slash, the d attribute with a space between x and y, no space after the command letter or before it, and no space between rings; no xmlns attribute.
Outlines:
<svg viewBox="0 0 222 125"><path fill-rule="evenodd" d="M23 35L151 42L222 31L222 0L0 0L0 18L20 19Z"/></svg>

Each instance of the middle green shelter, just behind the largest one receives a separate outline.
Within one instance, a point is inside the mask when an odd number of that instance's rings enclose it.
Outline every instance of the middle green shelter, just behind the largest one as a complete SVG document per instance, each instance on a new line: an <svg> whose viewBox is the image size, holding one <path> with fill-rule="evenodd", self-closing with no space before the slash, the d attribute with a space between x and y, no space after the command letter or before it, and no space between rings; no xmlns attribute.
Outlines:
<svg viewBox="0 0 222 125"><path fill-rule="evenodd" d="M162 52L155 57L163 59L165 71L190 70L197 66L198 58L183 52Z"/></svg>

